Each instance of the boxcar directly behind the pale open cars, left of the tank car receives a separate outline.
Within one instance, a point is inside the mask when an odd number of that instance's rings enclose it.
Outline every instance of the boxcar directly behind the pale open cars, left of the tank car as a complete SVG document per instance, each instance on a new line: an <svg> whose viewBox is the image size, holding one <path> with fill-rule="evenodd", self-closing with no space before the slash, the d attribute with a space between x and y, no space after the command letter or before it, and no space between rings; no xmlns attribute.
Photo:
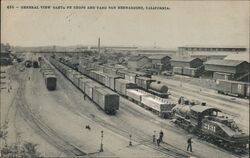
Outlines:
<svg viewBox="0 0 250 158"><path fill-rule="evenodd" d="M115 80L115 91L119 94L126 95L126 89L136 88L134 83L124 79Z"/></svg>

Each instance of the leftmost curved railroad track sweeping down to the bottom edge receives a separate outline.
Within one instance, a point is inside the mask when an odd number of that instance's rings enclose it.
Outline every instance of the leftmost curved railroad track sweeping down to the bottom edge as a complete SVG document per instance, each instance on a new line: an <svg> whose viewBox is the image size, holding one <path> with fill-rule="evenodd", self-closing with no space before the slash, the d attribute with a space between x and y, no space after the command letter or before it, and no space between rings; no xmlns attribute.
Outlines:
<svg viewBox="0 0 250 158"><path fill-rule="evenodd" d="M82 151L74 144L64 140L60 137L53 129L44 124L41 119L35 115L29 108L29 105L25 101L23 92L25 90L24 80L20 79L20 85L17 90L16 107L21 112L26 122L29 123L33 129L35 129L41 136L43 136L48 142L53 144L57 149L64 152L66 155L71 157L84 156L90 157L87 153Z"/></svg>

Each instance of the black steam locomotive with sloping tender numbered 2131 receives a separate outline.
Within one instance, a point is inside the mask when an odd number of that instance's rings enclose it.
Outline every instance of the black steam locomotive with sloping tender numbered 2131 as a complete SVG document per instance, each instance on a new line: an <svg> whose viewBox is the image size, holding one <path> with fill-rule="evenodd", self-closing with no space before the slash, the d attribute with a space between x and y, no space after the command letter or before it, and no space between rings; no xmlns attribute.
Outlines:
<svg viewBox="0 0 250 158"><path fill-rule="evenodd" d="M249 145L249 135L242 132L233 119L224 116L214 107L178 104L172 109L174 122L220 147L234 152L245 152Z"/></svg>

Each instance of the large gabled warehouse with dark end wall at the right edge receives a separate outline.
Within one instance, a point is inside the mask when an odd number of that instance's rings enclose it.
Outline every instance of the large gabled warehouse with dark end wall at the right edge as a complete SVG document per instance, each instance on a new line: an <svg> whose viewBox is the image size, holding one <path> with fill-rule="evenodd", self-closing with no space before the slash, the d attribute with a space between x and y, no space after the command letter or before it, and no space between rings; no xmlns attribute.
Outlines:
<svg viewBox="0 0 250 158"><path fill-rule="evenodd" d="M210 60L205 63L205 71L211 72L214 79L247 81L249 63L240 60Z"/></svg>

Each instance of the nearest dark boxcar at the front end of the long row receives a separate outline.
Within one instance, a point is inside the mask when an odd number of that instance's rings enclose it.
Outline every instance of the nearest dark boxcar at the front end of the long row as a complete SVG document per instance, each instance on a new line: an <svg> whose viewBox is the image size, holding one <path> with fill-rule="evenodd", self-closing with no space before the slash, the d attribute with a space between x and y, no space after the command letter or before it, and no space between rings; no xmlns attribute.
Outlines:
<svg viewBox="0 0 250 158"><path fill-rule="evenodd" d="M107 114L115 114L119 109L119 96L103 87L93 88L93 101Z"/></svg>

